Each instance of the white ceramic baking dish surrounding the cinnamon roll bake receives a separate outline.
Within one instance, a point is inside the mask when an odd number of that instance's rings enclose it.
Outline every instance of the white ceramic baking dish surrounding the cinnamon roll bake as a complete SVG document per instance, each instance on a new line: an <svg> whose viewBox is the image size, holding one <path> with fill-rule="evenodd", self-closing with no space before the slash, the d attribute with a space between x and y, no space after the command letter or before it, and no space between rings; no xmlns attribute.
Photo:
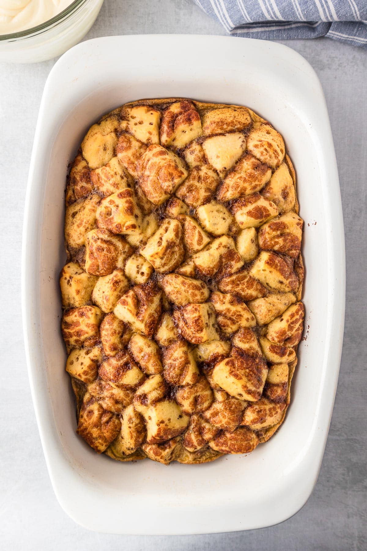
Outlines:
<svg viewBox="0 0 367 551"><path fill-rule="evenodd" d="M87 128L139 98L243 104L283 134L305 220L306 341L278 433L247 456L199 466L119 463L76 436L65 374L58 274L64 186ZM345 260L338 173L315 72L280 44L215 36L118 36L83 42L53 67L43 93L26 195L24 338L32 397L54 491L76 522L102 532L189 534L281 522L319 473L342 348Z"/></svg>

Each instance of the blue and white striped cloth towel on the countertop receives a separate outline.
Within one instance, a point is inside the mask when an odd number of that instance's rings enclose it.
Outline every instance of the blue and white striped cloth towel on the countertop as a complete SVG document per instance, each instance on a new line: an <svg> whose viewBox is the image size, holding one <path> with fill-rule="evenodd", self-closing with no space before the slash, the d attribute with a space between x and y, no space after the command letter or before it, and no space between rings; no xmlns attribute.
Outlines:
<svg viewBox="0 0 367 551"><path fill-rule="evenodd" d="M234 36L328 36L367 46L367 0L194 0Z"/></svg>

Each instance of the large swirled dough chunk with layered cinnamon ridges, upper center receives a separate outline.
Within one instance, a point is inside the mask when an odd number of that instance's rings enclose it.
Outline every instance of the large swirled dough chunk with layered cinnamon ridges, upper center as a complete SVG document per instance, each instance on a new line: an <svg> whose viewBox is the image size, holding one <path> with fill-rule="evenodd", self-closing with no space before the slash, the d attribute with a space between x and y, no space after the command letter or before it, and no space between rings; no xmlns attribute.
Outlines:
<svg viewBox="0 0 367 551"><path fill-rule="evenodd" d="M165 202L188 175L182 159L162 145L150 145L137 170L141 190L155 205Z"/></svg>

